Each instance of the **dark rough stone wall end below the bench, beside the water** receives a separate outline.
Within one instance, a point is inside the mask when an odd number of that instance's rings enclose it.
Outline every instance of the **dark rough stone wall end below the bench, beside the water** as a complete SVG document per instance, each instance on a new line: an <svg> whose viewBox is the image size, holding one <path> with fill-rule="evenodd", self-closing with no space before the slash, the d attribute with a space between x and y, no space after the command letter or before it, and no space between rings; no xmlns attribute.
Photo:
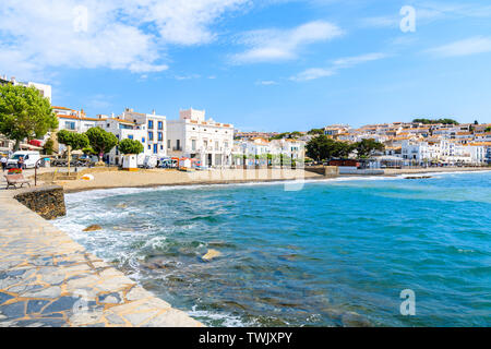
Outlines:
<svg viewBox="0 0 491 349"><path fill-rule="evenodd" d="M50 185L26 189L14 198L45 219L55 219L67 215L63 186Z"/></svg>

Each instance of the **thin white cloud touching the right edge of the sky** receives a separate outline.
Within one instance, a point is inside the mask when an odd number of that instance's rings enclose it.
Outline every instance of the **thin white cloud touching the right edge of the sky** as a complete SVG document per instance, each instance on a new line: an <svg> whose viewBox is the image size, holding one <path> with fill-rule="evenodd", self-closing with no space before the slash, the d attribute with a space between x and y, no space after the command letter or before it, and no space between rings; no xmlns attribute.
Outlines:
<svg viewBox="0 0 491 349"><path fill-rule="evenodd" d="M436 57L459 57L491 52L491 37L477 36L427 50Z"/></svg>

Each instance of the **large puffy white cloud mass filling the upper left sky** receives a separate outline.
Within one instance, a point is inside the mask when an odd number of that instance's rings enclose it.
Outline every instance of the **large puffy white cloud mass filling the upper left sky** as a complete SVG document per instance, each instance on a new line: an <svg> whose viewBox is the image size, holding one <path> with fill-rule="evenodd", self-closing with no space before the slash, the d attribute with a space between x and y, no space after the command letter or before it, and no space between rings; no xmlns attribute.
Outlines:
<svg viewBox="0 0 491 349"><path fill-rule="evenodd" d="M212 41L212 25L249 0L0 1L0 67L29 79L49 68L161 72L168 45ZM87 9L80 31L76 8ZM79 15L79 16L77 16ZM82 17L83 19L83 17ZM76 29L79 28L79 29ZM83 26L82 26L83 28Z"/></svg>

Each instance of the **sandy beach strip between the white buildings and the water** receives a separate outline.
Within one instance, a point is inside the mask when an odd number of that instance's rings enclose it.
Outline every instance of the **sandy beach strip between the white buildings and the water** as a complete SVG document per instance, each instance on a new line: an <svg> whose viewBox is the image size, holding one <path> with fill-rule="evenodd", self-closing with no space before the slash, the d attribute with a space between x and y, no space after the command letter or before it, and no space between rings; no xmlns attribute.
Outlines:
<svg viewBox="0 0 491 349"><path fill-rule="evenodd" d="M303 170L212 170L181 172L177 170L107 171L92 173L93 181L59 181L65 192L80 192L95 189L148 188L160 185L231 184L247 182L295 181L301 179L324 179L325 177Z"/></svg>

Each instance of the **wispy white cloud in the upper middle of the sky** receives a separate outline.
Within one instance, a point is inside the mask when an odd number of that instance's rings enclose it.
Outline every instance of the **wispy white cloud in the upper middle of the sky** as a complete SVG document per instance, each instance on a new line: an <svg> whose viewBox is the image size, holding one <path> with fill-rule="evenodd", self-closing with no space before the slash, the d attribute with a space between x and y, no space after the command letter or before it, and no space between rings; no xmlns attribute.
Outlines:
<svg viewBox="0 0 491 349"><path fill-rule="evenodd" d="M235 63L276 62L298 58L302 48L339 37L344 32L328 22L315 21L292 29L262 29L239 38L249 49L232 56Z"/></svg>

